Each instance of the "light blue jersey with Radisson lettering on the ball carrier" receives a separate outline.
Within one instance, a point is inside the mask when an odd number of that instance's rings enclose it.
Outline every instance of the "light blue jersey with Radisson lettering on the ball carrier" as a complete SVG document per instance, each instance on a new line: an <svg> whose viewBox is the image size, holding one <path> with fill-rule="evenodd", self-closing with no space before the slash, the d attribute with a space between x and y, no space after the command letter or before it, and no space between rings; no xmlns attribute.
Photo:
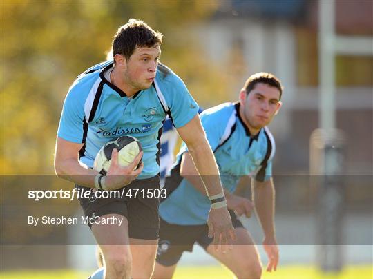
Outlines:
<svg viewBox="0 0 373 279"><path fill-rule="evenodd" d="M138 178L153 177L160 172L160 136L166 115L176 128L182 127L198 113L198 104L180 77L162 64L153 85L128 98L104 77L112 66L113 61L106 61L77 77L66 95L57 135L84 143L79 160L90 168L109 140L137 137L144 150L144 169Z"/></svg>

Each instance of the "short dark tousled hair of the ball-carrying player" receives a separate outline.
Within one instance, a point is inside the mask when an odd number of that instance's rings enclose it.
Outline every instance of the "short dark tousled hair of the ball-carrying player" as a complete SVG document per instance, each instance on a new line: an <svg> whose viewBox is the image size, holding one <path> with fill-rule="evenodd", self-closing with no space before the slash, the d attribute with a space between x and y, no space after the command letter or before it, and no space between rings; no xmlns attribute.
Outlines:
<svg viewBox="0 0 373 279"><path fill-rule="evenodd" d="M123 55L128 60L135 48L146 46L151 48L162 44L162 34L155 32L139 19L130 19L120 26L113 39L113 57Z"/></svg>

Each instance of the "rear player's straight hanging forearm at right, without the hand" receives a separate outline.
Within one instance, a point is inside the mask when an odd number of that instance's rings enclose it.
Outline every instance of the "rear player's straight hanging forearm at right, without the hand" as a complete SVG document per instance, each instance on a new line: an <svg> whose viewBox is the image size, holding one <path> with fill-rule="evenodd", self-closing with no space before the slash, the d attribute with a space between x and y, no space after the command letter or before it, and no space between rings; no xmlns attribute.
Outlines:
<svg viewBox="0 0 373 279"><path fill-rule="evenodd" d="M253 181L254 204L256 214L262 225L266 238L275 235L274 211L275 211L275 191L272 180L267 182Z"/></svg>

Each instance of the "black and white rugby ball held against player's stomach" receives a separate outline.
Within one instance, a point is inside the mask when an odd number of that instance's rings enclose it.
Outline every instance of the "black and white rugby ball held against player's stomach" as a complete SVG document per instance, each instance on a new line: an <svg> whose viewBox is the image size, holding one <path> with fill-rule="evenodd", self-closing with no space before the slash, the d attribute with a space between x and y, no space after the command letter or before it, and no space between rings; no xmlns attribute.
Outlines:
<svg viewBox="0 0 373 279"><path fill-rule="evenodd" d="M141 144L135 137L129 135L117 137L115 140L106 142L97 153L95 162L93 163L93 169L95 169L95 171L98 171L102 175L106 175L111 165L111 153L114 148L117 148L118 163L120 166L128 166L128 164L131 164L137 154L142 151ZM141 162L142 160L140 160L135 169L140 166Z"/></svg>

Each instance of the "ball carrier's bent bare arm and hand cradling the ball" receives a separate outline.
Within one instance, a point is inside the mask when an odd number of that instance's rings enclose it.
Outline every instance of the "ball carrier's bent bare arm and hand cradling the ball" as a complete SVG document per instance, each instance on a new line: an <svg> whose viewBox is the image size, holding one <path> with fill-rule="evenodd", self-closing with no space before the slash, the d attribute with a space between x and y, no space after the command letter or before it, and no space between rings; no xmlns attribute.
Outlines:
<svg viewBox="0 0 373 279"><path fill-rule="evenodd" d="M57 137L56 151L55 151L55 173L58 177L64 178L76 184L94 188L95 179L98 175L97 171L87 169L79 163L78 156L79 150L84 144L77 144L69 142L61 137ZM135 157L135 160L126 167L119 166L117 149L112 153L112 164L106 177L104 177L105 189L114 190L130 184L137 175L142 171L141 166L139 169L133 171L135 166L142 157L142 153Z"/></svg>

